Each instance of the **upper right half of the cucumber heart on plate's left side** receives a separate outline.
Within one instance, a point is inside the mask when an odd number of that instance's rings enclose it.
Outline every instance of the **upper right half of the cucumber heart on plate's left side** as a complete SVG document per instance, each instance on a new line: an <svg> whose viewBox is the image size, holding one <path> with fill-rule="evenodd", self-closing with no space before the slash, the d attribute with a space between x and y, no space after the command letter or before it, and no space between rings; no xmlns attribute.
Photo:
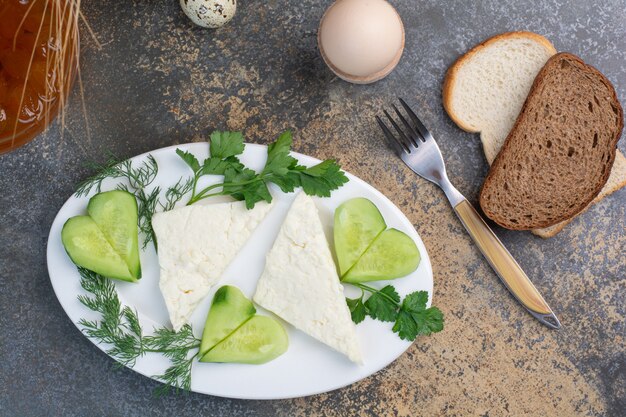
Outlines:
<svg viewBox="0 0 626 417"><path fill-rule="evenodd" d="M124 259L133 277L141 278L135 196L122 190L96 194L89 200L87 213Z"/></svg>

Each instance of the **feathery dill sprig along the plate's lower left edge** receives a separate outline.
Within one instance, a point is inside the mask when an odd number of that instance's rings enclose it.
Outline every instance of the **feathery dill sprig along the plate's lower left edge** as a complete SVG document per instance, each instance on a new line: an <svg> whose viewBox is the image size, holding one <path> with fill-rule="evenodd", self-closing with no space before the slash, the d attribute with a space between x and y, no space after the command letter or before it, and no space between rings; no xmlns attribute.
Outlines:
<svg viewBox="0 0 626 417"><path fill-rule="evenodd" d="M133 367L146 353L160 353L168 358L171 366L154 376L166 384L155 390L156 395L167 394L172 388L174 392L189 391L191 367L200 346L191 326L187 324L178 332L161 327L144 336L137 312L122 306L111 280L82 267L78 267L78 272L81 287L91 293L79 295L78 300L101 315L100 320L81 319L82 331L99 343L111 345L106 353L119 365Z"/></svg>

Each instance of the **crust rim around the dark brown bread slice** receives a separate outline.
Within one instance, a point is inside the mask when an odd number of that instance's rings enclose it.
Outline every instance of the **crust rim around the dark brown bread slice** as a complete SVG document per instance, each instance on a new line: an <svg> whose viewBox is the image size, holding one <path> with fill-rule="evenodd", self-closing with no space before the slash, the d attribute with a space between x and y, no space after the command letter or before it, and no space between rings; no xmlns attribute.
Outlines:
<svg viewBox="0 0 626 417"><path fill-rule="evenodd" d="M535 225L533 225L532 227L524 227L524 226L517 226L515 224L512 223L508 223L508 222L504 222L502 221L502 219L499 218L493 218L491 216L489 216L489 210L485 209L487 206L487 201L484 198L484 190L485 187L491 184L491 181L493 181L493 176L495 175L495 172L497 172L498 170L502 169L501 165L503 164L503 154L506 153L507 149L510 147L510 143L511 140L513 138L513 136L515 136L517 129L519 128L520 123L524 120L525 114L526 114L526 109L527 106L529 105L529 101L531 98L534 97L535 94L537 94L537 90L538 90L538 86L541 85L541 83L543 82L543 79L546 76L546 72L549 71L551 69L551 65L554 61L557 60L561 60L561 59L567 59L567 60L571 60L574 62L579 63L580 65L582 65L583 67L585 67L585 69L591 73L594 73L596 76L598 76L598 78L600 79L600 81L607 87L609 93L611 94L611 100L613 103L615 103L616 107L617 107L617 111L618 111L618 126L617 129L615 130L615 134L613 135L612 138L612 143L609 149L610 152L610 160L607 162L607 165L609 167L609 169L605 170L604 175L602 176L602 178L600 179L600 181L598 181L598 183L596 184L596 187L594 189L593 193L590 193L589 196L587 198L585 198L584 204L580 204L580 208L578 208L577 210L573 210L570 213L566 213L562 216L556 217L554 220L552 221L543 221L543 222L539 222ZM511 230L532 230L532 229L539 229L539 228L545 228L545 227L549 227L549 226L553 226L555 224L558 224L560 222L563 222L564 220L569 220L572 219L573 217L575 217L576 215L578 215L579 213L583 212L589 205L589 203L591 203L600 193L600 191L602 190L602 188L604 187L604 185L606 184L609 175L611 173L611 168L613 167L613 162L615 161L615 154L617 152L617 142L619 141L621 134L622 134L622 130L624 128L624 112L622 109L622 106L617 98L617 93L615 92L615 88L613 88L613 85L611 84L611 82L604 76L604 74L602 74L600 71L598 71L595 67L586 64L582 59L580 59L579 57L577 57L576 55L573 55L571 53L567 53L567 52L560 52L556 55L553 55L548 62L546 62L545 66L541 69L541 71L539 72L539 74L537 74L537 77L535 78L535 81L533 82L533 85L530 89L530 93L528 94L528 97L526 98L526 101L524 102L524 105L522 106L522 110L520 111L520 116L517 118L517 120L515 121L515 124L513 125L513 128L511 129L511 131L509 132L509 135L507 136L504 145L502 145L502 148L500 149L500 152L498 153L498 156L496 156L496 159L493 161L493 164L491 165L491 168L489 169L489 173L487 174L487 178L485 178L485 181L481 187L480 190L480 195L479 195L479 203L480 206L483 210L483 212L489 217L491 218L493 221L495 221L496 223L498 223L500 226L505 227L507 229L511 229ZM565 226L565 225L563 225ZM562 227L561 227L562 229ZM559 230L561 230L559 229ZM555 232L558 233L557 230Z"/></svg>

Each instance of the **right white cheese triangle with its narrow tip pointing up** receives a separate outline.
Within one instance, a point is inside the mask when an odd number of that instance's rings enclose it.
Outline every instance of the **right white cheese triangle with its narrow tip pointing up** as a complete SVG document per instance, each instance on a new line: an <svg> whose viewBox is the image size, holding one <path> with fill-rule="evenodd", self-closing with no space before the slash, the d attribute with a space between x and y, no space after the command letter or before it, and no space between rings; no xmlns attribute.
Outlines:
<svg viewBox="0 0 626 417"><path fill-rule="evenodd" d="M300 193L267 255L254 301L297 329L363 363L324 229L311 197Z"/></svg>

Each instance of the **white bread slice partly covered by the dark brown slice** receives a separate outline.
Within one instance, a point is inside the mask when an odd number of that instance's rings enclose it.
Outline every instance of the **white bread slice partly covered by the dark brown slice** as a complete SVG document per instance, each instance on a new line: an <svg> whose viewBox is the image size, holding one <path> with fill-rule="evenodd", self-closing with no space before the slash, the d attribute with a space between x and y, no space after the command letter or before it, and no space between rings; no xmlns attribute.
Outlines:
<svg viewBox="0 0 626 417"><path fill-rule="evenodd" d="M448 70L443 105L461 129L480 132L489 164L513 128L536 75L554 54L556 49L543 36L509 32L474 47ZM618 150L608 181L590 204L625 185L626 158ZM551 237L570 221L532 232Z"/></svg>

